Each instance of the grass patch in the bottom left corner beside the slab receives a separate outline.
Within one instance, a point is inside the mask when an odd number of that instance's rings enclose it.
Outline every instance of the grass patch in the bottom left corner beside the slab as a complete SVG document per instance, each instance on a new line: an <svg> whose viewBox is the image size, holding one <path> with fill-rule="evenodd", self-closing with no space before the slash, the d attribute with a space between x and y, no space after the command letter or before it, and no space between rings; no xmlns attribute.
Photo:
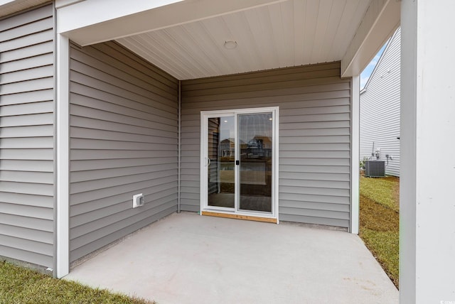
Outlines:
<svg viewBox="0 0 455 304"><path fill-rule="evenodd" d="M154 302L58 280L28 268L0 261L0 303L124 303Z"/></svg>

